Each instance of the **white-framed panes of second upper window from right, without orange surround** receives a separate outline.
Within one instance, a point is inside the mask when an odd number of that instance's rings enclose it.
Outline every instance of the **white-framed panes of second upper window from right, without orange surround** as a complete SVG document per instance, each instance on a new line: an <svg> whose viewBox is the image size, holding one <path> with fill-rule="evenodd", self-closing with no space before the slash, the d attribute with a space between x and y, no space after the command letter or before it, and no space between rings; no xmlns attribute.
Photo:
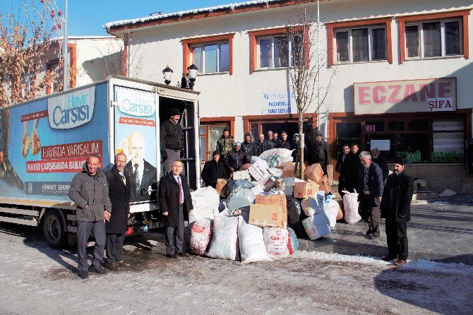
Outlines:
<svg viewBox="0 0 473 315"><path fill-rule="evenodd" d="M384 26L335 31L336 62L387 60Z"/></svg>

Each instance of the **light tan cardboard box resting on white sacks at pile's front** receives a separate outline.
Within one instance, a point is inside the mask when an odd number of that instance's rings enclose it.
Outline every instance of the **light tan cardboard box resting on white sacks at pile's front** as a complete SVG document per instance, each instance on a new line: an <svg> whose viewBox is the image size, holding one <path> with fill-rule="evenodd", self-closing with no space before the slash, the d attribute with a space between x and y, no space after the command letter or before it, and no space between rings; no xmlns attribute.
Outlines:
<svg viewBox="0 0 473 315"><path fill-rule="evenodd" d="M249 223L258 227L286 227L287 216L282 215L279 205L250 205Z"/></svg>

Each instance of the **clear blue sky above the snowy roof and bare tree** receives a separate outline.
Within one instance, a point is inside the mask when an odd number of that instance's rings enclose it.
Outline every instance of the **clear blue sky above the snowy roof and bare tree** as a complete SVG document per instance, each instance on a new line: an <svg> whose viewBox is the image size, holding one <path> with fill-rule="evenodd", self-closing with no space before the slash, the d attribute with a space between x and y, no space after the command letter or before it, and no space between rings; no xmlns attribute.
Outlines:
<svg viewBox="0 0 473 315"><path fill-rule="evenodd" d="M18 6L41 0L0 0L0 13L4 16L18 13ZM246 0L68 0L68 36L108 35L105 23L131 18L143 18L150 13L164 11L172 13L234 4ZM56 6L64 11L65 0L56 0Z"/></svg>

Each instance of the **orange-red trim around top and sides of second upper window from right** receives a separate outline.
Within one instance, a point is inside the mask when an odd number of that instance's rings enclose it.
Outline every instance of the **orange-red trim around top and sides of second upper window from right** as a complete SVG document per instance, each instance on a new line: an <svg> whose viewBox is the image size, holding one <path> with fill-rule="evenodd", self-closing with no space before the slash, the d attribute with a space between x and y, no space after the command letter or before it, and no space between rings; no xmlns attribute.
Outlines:
<svg viewBox="0 0 473 315"><path fill-rule="evenodd" d="M393 39L391 36L391 22L392 18L373 18L369 20L351 20L347 22L334 22L326 23L327 28L327 43L328 43L328 66L331 67L334 64L334 50L333 50L333 30L341 28L353 28L356 26L372 26L372 25L385 25L386 27L386 50L388 53L388 62L393 64Z"/></svg>

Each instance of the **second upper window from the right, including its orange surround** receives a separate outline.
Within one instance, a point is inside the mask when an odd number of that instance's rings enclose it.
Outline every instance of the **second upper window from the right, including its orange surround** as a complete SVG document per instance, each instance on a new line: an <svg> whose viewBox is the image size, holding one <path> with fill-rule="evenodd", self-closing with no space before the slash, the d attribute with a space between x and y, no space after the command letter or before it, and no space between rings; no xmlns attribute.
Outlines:
<svg viewBox="0 0 473 315"><path fill-rule="evenodd" d="M383 60L393 64L392 23L392 18L326 23L328 66Z"/></svg>

